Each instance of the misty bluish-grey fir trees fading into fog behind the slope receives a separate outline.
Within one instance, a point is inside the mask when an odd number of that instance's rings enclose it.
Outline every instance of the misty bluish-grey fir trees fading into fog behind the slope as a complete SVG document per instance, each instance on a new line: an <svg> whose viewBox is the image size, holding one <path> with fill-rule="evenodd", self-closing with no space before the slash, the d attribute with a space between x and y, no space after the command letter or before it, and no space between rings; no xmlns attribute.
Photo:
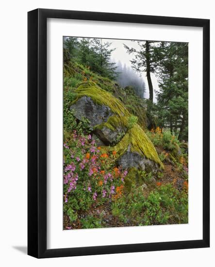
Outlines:
<svg viewBox="0 0 215 267"><path fill-rule="evenodd" d="M117 63L117 77L116 81L121 87L132 86L136 95L140 98L144 98L145 82L131 67L122 66L121 62Z"/></svg>

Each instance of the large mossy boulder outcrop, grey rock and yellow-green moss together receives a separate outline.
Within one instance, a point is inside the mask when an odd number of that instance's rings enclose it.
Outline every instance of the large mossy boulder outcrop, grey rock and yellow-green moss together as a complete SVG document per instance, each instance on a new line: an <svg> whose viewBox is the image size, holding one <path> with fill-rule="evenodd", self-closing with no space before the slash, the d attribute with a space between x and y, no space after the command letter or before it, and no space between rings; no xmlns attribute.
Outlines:
<svg viewBox="0 0 215 267"><path fill-rule="evenodd" d="M74 116L89 120L93 133L104 144L102 150L116 151L118 165L152 172L164 168L148 136L120 100L94 82L82 83L76 93L70 107Z"/></svg>

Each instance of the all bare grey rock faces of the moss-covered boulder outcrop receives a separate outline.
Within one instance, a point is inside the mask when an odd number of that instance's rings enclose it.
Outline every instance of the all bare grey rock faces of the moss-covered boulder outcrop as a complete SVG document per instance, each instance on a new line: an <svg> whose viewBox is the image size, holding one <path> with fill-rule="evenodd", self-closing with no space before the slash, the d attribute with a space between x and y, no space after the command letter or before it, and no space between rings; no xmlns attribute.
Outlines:
<svg viewBox="0 0 215 267"><path fill-rule="evenodd" d="M89 127L92 129L93 139L96 140L97 146L116 145L128 130L122 125L117 125L116 129L113 131L113 129L109 129L105 124L102 125L102 123L107 122L109 117L116 116L116 114L112 112L110 107L94 103L90 97L81 97L70 106L70 110L73 111L77 119L83 120L83 118L87 118L89 120ZM95 127L96 125L99 126ZM130 146L125 153L118 158L117 163L124 169L135 167L149 172L157 172L159 169L157 163L144 155L132 152Z"/></svg>

